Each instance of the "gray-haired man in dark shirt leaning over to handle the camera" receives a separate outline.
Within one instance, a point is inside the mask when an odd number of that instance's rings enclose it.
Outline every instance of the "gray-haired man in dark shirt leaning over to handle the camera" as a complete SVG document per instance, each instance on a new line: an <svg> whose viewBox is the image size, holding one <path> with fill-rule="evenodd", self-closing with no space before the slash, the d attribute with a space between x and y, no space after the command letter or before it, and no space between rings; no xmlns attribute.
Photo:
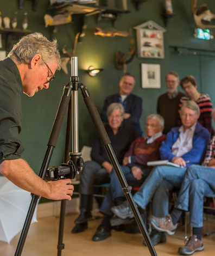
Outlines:
<svg viewBox="0 0 215 256"><path fill-rule="evenodd" d="M71 200L71 180L46 182L21 159L22 93L31 97L47 89L56 69L60 69L56 40L50 42L40 33L23 36L0 62L0 172L23 190L49 199Z"/></svg>

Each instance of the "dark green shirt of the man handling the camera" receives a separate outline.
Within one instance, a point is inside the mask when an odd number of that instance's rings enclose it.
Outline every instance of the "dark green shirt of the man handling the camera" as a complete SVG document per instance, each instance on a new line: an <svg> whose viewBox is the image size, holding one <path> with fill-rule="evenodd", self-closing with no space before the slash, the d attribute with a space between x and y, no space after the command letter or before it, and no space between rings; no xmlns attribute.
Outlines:
<svg viewBox="0 0 215 256"><path fill-rule="evenodd" d="M18 138L22 128L22 80L9 58L0 62L0 163L20 159L24 145Z"/></svg>

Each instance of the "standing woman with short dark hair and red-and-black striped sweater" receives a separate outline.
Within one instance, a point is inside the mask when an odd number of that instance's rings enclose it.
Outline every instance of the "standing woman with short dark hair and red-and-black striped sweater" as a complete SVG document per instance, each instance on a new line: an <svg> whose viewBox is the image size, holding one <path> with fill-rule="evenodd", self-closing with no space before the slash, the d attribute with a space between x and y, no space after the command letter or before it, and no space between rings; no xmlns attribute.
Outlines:
<svg viewBox="0 0 215 256"><path fill-rule="evenodd" d="M215 133L213 127L211 126L213 107L209 95L198 92L197 80L195 80L195 77L193 76L186 76L182 78L182 80L180 81L180 86L185 91L186 96L181 97L181 103L179 104L179 107L181 108L182 103L188 100L192 100L197 103L200 108L200 117L198 119L198 122L210 132L211 136L213 136ZM181 124L182 123L179 115L177 120L177 126L181 126Z"/></svg>

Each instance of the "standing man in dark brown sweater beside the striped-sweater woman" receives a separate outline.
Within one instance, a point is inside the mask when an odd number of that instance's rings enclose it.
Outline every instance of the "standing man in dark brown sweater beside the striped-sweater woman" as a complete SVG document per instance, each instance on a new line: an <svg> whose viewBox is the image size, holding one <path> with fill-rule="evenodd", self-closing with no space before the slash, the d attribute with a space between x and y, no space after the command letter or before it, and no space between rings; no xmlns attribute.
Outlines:
<svg viewBox="0 0 215 256"><path fill-rule="evenodd" d="M167 93L161 95L157 100L157 114L162 115L165 119L163 133L167 134L167 132L176 126L180 99L185 94L178 92L179 75L176 72L168 72L165 80Z"/></svg>

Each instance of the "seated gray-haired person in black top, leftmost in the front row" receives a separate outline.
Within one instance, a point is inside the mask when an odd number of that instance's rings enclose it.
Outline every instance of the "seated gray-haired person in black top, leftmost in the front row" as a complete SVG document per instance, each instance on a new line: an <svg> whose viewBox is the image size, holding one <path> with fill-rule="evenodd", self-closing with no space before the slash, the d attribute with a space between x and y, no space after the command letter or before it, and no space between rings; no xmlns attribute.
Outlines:
<svg viewBox="0 0 215 256"><path fill-rule="evenodd" d="M137 132L134 126L122 123L124 108L121 103L112 103L107 109L107 115L109 124L105 126L105 129L118 162L122 164L124 154L137 138ZM110 182L109 174L113 167L98 133L94 137L91 159L92 161L85 163L80 175L80 214L74 221L76 225L72 233L84 231L87 228L87 220L92 218L93 186Z"/></svg>

